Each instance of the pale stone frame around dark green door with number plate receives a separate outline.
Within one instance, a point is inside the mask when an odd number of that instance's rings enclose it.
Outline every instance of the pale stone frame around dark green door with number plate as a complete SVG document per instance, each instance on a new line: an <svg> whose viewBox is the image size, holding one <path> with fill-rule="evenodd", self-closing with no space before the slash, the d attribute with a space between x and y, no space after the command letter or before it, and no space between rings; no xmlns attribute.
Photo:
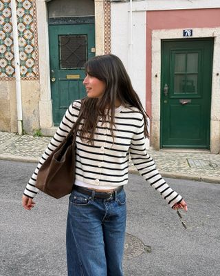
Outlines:
<svg viewBox="0 0 220 276"><path fill-rule="evenodd" d="M212 92L211 92L211 121L210 121L210 152L220 152L220 28L193 28L193 38L214 38L213 64L212 64ZM160 137L160 91L161 91L161 41L164 39L182 39L182 29L153 30L152 31L152 146L159 150ZM157 76L157 77L155 77Z"/></svg>

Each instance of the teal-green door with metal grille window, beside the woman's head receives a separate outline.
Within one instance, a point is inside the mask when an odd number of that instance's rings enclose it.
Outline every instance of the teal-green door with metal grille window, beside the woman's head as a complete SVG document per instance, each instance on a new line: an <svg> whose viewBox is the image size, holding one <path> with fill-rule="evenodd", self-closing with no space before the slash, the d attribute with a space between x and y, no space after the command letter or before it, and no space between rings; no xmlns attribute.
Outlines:
<svg viewBox="0 0 220 276"><path fill-rule="evenodd" d="M50 79L54 126L75 99L85 97L84 64L95 54L94 24L51 25Z"/></svg>

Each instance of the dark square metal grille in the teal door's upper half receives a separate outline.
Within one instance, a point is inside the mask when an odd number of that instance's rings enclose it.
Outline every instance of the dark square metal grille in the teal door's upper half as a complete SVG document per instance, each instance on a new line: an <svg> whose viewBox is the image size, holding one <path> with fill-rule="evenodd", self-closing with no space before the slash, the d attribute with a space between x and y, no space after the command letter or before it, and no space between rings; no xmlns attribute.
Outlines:
<svg viewBox="0 0 220 276"><path fill-rule="evenodd" d="M61 69L84 68L87 61L86 35L61 35L59 44Z"/></svg>

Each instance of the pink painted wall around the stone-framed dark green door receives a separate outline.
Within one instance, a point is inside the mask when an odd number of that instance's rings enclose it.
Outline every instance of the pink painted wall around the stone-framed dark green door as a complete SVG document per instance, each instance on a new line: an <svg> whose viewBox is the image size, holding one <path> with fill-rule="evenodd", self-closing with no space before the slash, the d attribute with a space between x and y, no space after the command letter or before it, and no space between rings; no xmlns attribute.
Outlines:
<svg viewBox="0 0 220 276"><path fill-rule="evenodd" d="M220 26L220 9L157 10L146 12L146 112L151 117L151 32L160 29Z"/></svg>

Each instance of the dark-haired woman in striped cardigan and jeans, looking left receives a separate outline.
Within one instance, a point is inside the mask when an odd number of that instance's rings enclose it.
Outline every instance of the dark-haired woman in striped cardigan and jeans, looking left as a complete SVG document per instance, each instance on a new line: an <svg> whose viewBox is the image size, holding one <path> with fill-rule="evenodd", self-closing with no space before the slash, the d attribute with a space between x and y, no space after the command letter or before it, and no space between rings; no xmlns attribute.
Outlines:
<svg viewBox="0 0 220 276"><path fill-rule="evenodd" d="M146 152L146 112L122 61L103 55L85 64L87 97L72 103L23 194L31 210L37 172L83 112L76 138L76 181L69 197L67 268L70 276L122 276L126 224L123 186L128 182L129 154L140 174L171 208L186 202L157 172Z"/></svg>

